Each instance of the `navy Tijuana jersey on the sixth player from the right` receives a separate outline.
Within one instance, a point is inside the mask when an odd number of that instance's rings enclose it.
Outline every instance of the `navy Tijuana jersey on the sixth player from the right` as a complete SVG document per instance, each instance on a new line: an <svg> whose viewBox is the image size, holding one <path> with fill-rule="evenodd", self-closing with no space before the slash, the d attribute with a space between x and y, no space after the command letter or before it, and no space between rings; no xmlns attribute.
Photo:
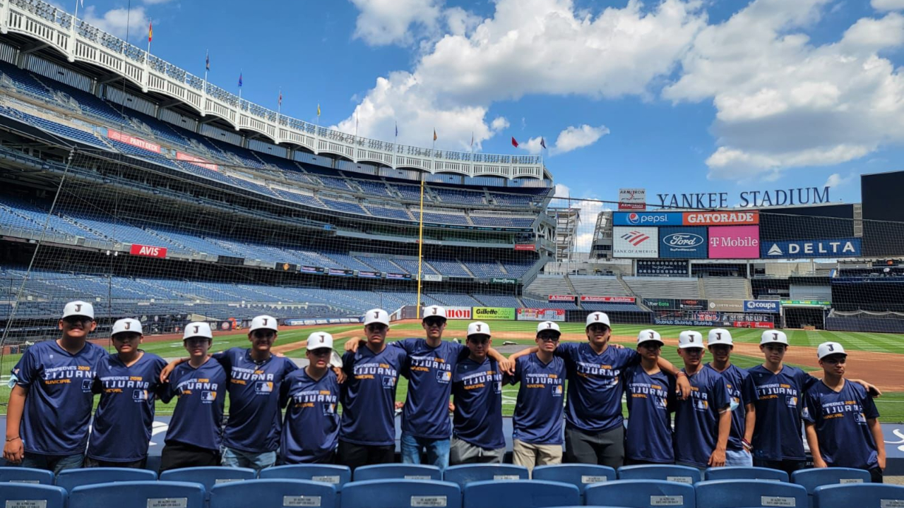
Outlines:
<svg viewBox="0 0 904 508"><path fill-rule="evenodd" d="M621 373L640 362L630 349L607 347L597 354L589 343L560 343L556 356L568 370L568 405L565 420L588 432L605 432L623 425Z"/></svg>

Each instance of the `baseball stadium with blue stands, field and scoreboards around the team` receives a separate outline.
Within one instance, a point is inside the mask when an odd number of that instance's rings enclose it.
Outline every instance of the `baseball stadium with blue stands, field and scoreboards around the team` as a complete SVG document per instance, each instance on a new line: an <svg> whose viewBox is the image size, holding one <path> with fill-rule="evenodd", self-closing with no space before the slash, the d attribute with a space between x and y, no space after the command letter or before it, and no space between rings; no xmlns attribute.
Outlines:
<svg viewBox="0 0 904 508"><path fill-rule="evenodd" d="M729 330L741 369L764 362L765 330L784 332L785 364L816 377L818 346L841 344L846 376L881 391L874 403L887 480L904 475L904 207L892 204L904 172L862 175L853 203L831 202L827 187L769 191L744 208L647 199L653 188L613 188L610 201L562 198L539 155L403 146L290 118L42 0L0 0L0 27L3 414L24 356L60 338L63 308L76 300L93 307L88 340L108 353L125 318L140 323L142 350L168 362L185 356L189 323L210 325L213 353L247 348L253 318L267 315L278 320L272 353L302 368L315 332L331 334L339 354L367 341L369 309L391 316L386 340L395 342L423 337L423 308L443 307L444 341L465 344L468 325L480 321L505 356L536 345L541 322L559 327L561 343L587 343L585 321L601 312L616 347L633 351L641 330L653 329L675 365L689 330ZM511 450L519 387L501 393ZM400 377L395 400L408 397ZM579 473L577 487L528 480L510 465L451 484L430 471L361 482L356 472L341 496L350 470L314 471L295 484L271 476L217 485L257 477L222 467L165 483L156 469L175 406L155 402L146 469L157 486L85 475L83 484L52 487L64 476L33 480L9 464L0 482L53 490L0 483L0 498L23 508L841 505L831 496L880 506L867 503L873 495L883 508L904 505L899 491L820 495L788 475L765 483L707 471L694 486L660 481L681 475L617 476L605 466ZM297 482L334 474L342 481ZM517 487L498 481L519 478ZM113 480L135 488L110 489ZM622 490L639 501L614 491L622 481L634 482Z"/></svg>

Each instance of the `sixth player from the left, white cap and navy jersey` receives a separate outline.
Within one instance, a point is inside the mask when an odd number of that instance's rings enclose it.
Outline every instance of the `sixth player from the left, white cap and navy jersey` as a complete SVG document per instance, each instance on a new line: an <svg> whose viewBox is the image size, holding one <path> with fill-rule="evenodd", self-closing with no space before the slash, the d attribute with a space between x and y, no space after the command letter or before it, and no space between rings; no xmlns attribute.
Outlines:
<svg viewBox="0 0 904 508"><path fill-rule="evenodd" d="M387 347L389 327L385 310L367 311L367 344L343 356L348 379L342 386L338 462L353 469L395 459L396 385L408 353L400 347Z"/></svg>

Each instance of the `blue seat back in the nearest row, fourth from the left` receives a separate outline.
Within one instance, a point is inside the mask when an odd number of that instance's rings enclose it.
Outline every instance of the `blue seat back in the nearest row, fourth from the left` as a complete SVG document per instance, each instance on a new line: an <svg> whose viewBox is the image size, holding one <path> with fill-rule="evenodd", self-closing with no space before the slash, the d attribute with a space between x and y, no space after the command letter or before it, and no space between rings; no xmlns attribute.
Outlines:
<svg viewBox="0 0 904 508"><path fill-rule="evenodd" d="M461 506L461 489L450 482L368 480L345 484L341 508L414 508Z"/></svg>

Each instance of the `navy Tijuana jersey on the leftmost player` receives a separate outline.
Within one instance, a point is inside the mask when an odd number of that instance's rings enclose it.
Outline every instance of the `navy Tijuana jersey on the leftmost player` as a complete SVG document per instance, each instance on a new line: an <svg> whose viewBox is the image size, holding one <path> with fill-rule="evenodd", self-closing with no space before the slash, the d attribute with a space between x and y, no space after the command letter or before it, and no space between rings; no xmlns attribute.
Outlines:
<svg viewBox="0 0 904 508"><path fill-rule="evenodd" d="M91 384L104 348L85 343L70 354L56 341L29 347L19 361L19 381L28 390L19 433L24 450L43 455L84 453L94 394Z"/></svg>

